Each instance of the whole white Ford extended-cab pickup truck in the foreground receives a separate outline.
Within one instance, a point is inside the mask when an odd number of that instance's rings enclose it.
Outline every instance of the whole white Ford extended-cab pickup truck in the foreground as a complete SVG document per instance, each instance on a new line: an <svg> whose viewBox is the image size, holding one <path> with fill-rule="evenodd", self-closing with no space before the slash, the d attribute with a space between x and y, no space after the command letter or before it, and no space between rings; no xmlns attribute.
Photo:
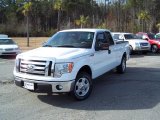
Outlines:
<svg viewBox="0 0 160 120"><path fill-rule="evenodd" d="M128 42L115 43L106 29L63 30L16 57L15 84L29 90L48 85L52 92L71 92L84 100L93 79L113 68L124 73L129 57Z"/></svg>

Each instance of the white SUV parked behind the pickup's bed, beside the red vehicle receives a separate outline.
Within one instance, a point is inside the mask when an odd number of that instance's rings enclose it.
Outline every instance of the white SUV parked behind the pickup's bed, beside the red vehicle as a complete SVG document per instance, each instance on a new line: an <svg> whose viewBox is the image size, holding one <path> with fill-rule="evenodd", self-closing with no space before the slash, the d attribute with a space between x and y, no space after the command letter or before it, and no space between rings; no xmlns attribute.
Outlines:
<svg viewBox="0 0 160 120"><path fill-rule="evenodd" d="M133 33L112 32L114 40L128 41L130 45L130 52L140 51L144 54L150 51L150 44L146 40L139 39Z"/></svg>

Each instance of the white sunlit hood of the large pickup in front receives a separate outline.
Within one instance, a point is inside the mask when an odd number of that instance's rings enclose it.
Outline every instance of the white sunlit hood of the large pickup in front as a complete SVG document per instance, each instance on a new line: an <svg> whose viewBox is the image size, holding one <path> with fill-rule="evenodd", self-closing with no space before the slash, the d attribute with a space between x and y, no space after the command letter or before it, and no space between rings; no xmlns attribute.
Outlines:
<svg viewBox="0 0 160 120"><path fill-rule="evenodd" d="M56 58L56 59L74 59L91 53L91 49L83 48L57 48L57 47L40 47L24 53L18 57L39 57L39 58Z"/></svg>

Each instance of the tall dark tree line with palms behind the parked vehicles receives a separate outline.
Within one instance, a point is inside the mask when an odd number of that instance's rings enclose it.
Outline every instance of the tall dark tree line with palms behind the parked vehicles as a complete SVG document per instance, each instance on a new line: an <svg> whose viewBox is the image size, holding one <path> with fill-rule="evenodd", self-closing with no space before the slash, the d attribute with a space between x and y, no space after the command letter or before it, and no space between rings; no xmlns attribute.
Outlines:
<svg viewBox="0 0 160 120"><path fill-rule="evenodd" d="M69 28L158 32L159 0L1 0L0 33L50 36Z"/></svg>

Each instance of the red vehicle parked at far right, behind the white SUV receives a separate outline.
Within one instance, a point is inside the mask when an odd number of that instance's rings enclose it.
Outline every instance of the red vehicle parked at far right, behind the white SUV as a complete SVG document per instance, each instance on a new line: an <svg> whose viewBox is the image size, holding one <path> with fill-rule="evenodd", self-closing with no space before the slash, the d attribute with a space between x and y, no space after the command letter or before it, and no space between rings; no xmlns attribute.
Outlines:
<svg viewBox="0 0 160 120"><path fill-rule="evenodd" d="M144 32L139 32L136 34L138 37L147 40L150 45L151 45L151 51L153 53L157 53L160 49L160 39L157 39L155 37L155 34L153 33L144 33Z"/></svg>

